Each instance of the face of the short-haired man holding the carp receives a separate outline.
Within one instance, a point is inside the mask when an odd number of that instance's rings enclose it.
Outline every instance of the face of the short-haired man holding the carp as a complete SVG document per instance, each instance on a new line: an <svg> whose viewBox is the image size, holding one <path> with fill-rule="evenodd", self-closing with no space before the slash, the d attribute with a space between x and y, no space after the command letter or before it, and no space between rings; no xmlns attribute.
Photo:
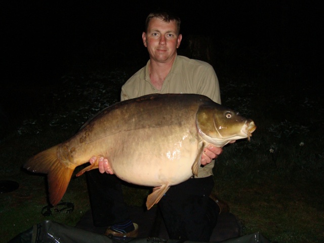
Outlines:
<svg viewBox="0 0 324 243"><path fill-rule="evenodd" d="M175 57L182 35L178 35L175 21L167 23L159 18L152 18L142 38L150 58L157 62L167 62Z"/></svg>

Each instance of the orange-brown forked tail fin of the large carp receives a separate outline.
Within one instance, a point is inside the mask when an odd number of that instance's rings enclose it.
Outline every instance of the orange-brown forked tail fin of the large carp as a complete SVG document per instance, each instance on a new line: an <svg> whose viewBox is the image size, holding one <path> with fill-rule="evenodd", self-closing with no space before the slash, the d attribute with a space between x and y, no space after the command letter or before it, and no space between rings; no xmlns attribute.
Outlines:
<svg viewBox="0 0 324 243"><path fill-rule="evenodd" d="M57 155L58 146L51 147L28 159L24 168L34 173L47 174L49 200L55 206L62 199L75 166L62 163Z"/></svg>

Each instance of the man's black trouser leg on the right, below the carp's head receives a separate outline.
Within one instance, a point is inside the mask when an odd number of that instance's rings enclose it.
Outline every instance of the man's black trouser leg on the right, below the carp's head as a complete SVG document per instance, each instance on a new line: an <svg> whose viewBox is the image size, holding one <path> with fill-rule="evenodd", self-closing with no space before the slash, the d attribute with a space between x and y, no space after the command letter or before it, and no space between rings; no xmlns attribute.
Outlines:
<svg viewBox="0 0 324 243"><path fill-rule="evenodd" d="M170 239L209 241L219 214L209 198L213 187L213 176L170 187L158 203Z"/></svg>

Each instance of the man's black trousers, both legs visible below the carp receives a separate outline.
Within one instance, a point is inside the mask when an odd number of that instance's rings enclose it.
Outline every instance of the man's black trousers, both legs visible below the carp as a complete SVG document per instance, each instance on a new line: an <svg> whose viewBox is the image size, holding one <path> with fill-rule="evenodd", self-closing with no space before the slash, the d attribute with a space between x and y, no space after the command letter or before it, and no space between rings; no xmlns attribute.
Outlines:
<svg viewBox="0 0 324 243"><path fill-rule="evenodd" d="M94 225L108 226L130 219L120 180L98 170L87 174ZM213 186L213 176L171 186L158 203L170 239L209 241L219 213L217 204L209 198Z"/></svg>

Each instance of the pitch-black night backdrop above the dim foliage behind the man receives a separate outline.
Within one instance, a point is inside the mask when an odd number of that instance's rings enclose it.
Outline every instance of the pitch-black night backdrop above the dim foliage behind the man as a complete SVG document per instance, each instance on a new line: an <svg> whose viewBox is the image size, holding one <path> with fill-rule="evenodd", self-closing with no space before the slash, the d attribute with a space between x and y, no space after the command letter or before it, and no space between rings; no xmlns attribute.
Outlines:
<svg viewBox="0 0 324 243"><path fill-rule="evenodd" d="M180 16L183 46L189 35L213 39L218 75L225 59L252 76L263 72L255 65L268 62L278 89L282 82L321 88L321 1L153 2L2 1L3 110L19 103L26 88L59 84L76 66L139 69L148 60L141 39L145 19L158 8ZM286 70L292 74L278 81Z"/></svg>

